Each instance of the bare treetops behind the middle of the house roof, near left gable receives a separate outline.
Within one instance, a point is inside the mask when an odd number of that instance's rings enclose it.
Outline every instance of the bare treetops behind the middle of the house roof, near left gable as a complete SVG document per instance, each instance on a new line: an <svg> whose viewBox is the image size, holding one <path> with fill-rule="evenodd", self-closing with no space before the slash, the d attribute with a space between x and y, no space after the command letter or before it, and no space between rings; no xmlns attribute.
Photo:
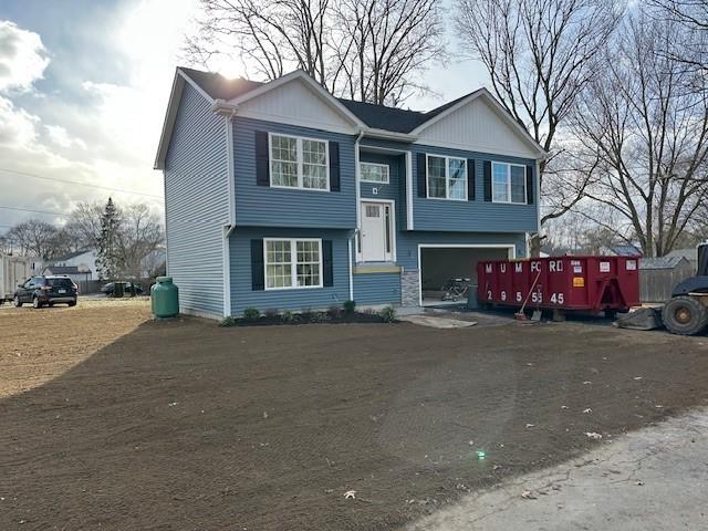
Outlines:
<svg viewBox="0 0 708 531"><path fill-rule="evenodd" d="M201 0L190 61L274 80L302 69L339 96L398 104L444 52L440 0Z"/></svg>

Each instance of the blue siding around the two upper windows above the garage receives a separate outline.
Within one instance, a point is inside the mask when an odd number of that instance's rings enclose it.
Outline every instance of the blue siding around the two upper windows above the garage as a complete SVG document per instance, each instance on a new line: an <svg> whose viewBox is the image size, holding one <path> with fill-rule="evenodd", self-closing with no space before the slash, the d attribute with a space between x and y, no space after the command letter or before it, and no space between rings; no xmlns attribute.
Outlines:
<svg viewBox="0 0 708 531"><path fill-rule="evenodd" d="M485 160L517 163L524 166L532 165L535 174L534 160L419 145L415 145L414 149L413 208L415 230L449 230L456 232L534 232L538 230L537 190L533 190L533 205L503 205L485 201L485 174L482 167ZM450 201L418 197L418 153L475 159L475 200ZM534 184L537 179L538 176L534 175Z"/></svg>

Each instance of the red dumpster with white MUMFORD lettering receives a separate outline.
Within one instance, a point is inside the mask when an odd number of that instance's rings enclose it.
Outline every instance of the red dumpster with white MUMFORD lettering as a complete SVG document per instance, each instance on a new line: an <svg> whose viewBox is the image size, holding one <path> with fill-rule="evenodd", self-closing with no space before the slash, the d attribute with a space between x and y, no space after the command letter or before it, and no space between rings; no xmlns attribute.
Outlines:
<svg viewBox="0 0 708 531"><path fill-rule="evenodd" d="M482 303L626 312L639 304L639 257L548 257L477 263Z"/></svg>

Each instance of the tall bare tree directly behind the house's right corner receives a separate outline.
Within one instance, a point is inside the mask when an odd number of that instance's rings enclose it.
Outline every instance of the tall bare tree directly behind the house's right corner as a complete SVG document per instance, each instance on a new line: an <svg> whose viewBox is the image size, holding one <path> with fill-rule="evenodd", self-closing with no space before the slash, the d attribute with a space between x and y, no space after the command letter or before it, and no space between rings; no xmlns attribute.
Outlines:
<svg viewBox="0 0 708 531"><path fill-rule="evenodd" d="M554 167L562 153L556 134L600 70L598 51L617 27L620 3L456 0L455 8L462 50L481 61L504 108L552 155L541 163L541 222L562 216L582 198L589 173Z"/></svg>

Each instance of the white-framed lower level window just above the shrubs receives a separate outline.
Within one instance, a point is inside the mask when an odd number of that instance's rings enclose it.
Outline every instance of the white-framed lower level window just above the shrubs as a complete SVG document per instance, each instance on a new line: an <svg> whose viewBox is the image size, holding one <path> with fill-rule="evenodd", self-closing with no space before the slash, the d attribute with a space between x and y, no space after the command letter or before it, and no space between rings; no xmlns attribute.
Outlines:
<svg viewBox="0 0 708 531"><path fill-rule="evenodd" d="M322 240L264 241L267 290L322 287Z"/></svg>

